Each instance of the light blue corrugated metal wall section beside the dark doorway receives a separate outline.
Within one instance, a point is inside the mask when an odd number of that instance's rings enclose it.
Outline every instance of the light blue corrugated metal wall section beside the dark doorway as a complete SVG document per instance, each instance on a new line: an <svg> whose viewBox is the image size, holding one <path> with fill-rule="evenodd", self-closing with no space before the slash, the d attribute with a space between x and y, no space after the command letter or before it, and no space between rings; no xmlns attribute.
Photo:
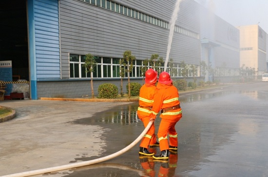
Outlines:
<svg viewBox="0 0 268 177"><path fill-rule="evenodd" d="M60 78L58 0L34 0L37 79Z"/></svg>

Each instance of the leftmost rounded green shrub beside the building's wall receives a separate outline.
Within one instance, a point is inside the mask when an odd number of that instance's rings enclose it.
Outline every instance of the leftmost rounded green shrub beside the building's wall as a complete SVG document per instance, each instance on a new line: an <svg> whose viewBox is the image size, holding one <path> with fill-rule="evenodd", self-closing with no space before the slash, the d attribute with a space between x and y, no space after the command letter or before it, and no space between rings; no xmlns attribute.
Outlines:
<svg viewBox="0 0 268 177"><path fill-rule="evenodd" d="M103 83L98 86L97 98L116 98L118 96L118 88L112 83Z"/></svg>

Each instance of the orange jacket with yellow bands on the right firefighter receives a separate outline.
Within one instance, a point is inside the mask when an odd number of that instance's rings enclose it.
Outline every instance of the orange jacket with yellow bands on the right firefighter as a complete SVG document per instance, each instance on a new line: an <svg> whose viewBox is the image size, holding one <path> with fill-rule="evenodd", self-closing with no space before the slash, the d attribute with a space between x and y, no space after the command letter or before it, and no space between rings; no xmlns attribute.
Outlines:
<svg viewBox="0 0 268 177"><path fill-rule="evenodd" d="M154 96L154 103L152 108L152 118L156 118L156 115L160 109L170 108L179 105L179 93L178 89L173 84L161 84L157 83L156 94ZM178 118L182 117L181 108L161 113L160 118L169 119L171 122L178 121Z"/></svg>

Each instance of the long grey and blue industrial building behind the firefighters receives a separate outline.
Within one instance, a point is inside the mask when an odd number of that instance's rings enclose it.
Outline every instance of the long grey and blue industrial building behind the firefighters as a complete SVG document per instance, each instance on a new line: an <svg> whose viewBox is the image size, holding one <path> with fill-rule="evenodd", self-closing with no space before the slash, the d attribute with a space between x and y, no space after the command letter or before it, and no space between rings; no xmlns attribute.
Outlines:
<svg viewBox="0 0 268 177"><path fill-rule="evenodd" d="M0 2L3 27L0 61L12 61L12 76L26 79L30 98L90 97L85 55L95 56L94 91L110 82L120 87L119 61L135 56L132 82L142 83L140 67L152 54L166 59L176 0L12 0ZM14 5L16 4L16 5ZM180 63L194 65L188 78L224 80L239 76L239 30L194 0L182 0L169 59L180 79ZM201 74L205 61L213 73ZM1 79L0 79L1 80ZM124 78L124 86L127 80ZM125 90L125 88L124 88ZM97 95L97 93L96 93Z"/></svg>

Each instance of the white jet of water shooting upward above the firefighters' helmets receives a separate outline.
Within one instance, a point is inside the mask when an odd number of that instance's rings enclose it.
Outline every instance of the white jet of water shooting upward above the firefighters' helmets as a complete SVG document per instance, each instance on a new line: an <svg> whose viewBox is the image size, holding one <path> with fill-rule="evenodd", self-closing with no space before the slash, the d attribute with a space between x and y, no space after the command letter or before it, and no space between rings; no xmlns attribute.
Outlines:
<svg viewBox="0 0 268 177"><path fill-rule="evenodd" d="M169 35L169 43L168 43L168 49L167 49L167 57L165 60L165 65L164 65L165 66L164 71L167 70L167 66L168 66L168 62L169 62L174 27L175 27L175 22L176 22L177 17L178 17L180 2L181 2L181 0L177 0L177 2L175 4L175 9L174 9L173 14L172 14L172 18L170 20L170 35Z"/></svg>

